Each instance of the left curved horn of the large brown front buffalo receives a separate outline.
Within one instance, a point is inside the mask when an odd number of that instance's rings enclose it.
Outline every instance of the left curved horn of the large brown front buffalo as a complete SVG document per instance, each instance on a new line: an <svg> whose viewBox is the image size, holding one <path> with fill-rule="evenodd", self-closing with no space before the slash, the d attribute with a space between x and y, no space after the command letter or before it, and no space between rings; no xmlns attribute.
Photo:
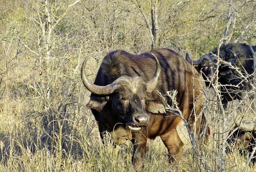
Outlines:
<svg viewBox="0 0 256 172"><path fill-rule="evenodd" d="M85 64L88 60L88 57L84 60L82 67L81 67L81 78L83 81L84 87L86 87L91 93L97 94L97 95L106 95L113 93L115 88L115 81L109 85L106 86L99 86L93 84L86 76L85 73Z"/></svg>

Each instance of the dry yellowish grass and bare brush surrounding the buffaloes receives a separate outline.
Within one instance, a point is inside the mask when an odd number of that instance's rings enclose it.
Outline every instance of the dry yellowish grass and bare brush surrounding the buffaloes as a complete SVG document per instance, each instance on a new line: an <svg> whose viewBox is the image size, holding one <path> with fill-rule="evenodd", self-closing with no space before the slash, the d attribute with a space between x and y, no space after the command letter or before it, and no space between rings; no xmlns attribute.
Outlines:
<svg viewBox="0 0 256 172"><path fill-rule="evenodd" d="M222 38L256 45L255 13L255 0L0 0L0 171L133 171L132 144L103 147L85 107L84 58L90 56L93 80L113 49L163 47L199 58ZM249 119L255 111L244 100L223 113L218 93L204 94L209 142L199 153L185 148L174 167L163 143L149 141L147 171L256 171L238 152L224 152L236 109Z"/></svg>

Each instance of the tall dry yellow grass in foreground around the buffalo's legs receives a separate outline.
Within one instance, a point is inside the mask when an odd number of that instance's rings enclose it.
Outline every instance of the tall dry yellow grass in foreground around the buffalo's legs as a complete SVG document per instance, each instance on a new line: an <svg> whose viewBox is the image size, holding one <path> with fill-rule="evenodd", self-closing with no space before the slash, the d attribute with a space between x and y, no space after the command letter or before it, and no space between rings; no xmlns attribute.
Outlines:
<svg viewBox="0 0 256 172"><path fill-rule="evenodd" d="M88 92L81 83L78 85L81 93L78 95L79 102L68 104L65 113L63 113L63 106L45 112L37 112L37 110L31 112L31 108L28 110L27 105L35 103L33 109L36 109L35 97L9 92L13 96L5 98L6 102L2 104L0 112L0 171L133 171L131 142L116 148L113 148L110 143L102 145L95 119L90 110L84 107L86 102L83 97L88 101ZM14 88L18 87L20 86L14 86ZM86 93L85 96L84 93ZM212 89L205 89L205 93L212 95ZM210 96L207 98L211 99ZM209 169L219 171L220 141L222 140L216 133L222 127L218 121L223 119L218 119L219 114L214 112L216 109L212 106L213 103L206 101L205 112L214 136L211 135L201 153ZM230 127L234 126L232 117L234 104L237 103L238 101L229 103L225 112L229 119L227 119L227 132L223 133L224 139ZM242 110L248 111L248 107ZM246 114L250 113L246 112ZM180 127L183 127L180 137L186 146L179 164L175 166L168 163L167 150L160 138L157 138L154 141L148 140L145 159L147 171L205 171L195 157L183 124ZM225 171L242 171L247 158L240 156L238 151L225 156ZM255 170L254 167L249 166L246 171L253 170Z"/></svg>

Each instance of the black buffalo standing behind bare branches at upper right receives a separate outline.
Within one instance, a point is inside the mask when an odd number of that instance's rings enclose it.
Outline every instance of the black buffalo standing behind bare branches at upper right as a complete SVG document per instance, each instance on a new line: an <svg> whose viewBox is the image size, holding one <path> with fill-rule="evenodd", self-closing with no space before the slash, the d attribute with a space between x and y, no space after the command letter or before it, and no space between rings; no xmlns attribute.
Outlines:
<svg viewBox="0 0 256 172"><path fill-rule="evenodd" d="M256 46L252 47L256 51ZM187 62L193 64L196 70L202 73L207 86L211 85L211 81L216 80L217 54L217 47L197 60L192 60L186 54ZM226 108L228 101L241 99L242 92L248 88L253 79L253 53L249 45L229 43L220 46L219 58L221 62L218 72L218 83L222 85L220 87L223 98L222 104ZM237 67L239 70L230 67L230 65Z"/></svg>

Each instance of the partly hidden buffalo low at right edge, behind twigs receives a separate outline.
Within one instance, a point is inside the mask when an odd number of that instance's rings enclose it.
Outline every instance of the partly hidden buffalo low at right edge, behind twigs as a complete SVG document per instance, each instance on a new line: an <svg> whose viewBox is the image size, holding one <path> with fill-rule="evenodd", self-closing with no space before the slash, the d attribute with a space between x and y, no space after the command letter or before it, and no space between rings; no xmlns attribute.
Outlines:
<svg viewBox="0 0 256 172"><path fill-rule="evenodd" d="M256 121L251 123L236 122L233 130L229 132L230 137L227 139L226 152L233 153L238 150L242 156L250 157L255 147L256 140ZM256 153L253 154L251 162L255 164Z"/></svg>

